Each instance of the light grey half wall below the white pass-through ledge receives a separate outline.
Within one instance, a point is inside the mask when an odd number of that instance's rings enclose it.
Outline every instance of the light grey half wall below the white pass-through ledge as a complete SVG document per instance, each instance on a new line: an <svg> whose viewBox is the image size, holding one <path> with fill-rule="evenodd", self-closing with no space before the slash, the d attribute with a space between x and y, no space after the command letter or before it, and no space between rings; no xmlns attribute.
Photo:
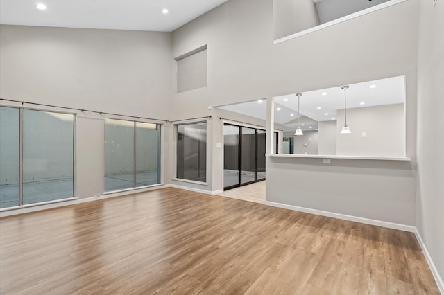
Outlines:
<svg viewBox="0 0 444 295"><path fill-rule="evenodd" d="M409 162L267 157L266 201L415 224L415 179Z"/></svg>

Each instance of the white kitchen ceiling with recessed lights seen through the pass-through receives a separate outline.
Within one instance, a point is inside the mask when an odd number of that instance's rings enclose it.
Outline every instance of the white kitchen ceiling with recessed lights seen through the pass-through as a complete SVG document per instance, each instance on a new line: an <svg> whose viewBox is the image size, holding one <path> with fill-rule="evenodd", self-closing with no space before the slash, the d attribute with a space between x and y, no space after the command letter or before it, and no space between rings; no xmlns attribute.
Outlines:
<svg viewBox="0 0 444 295"><path fill-rule="evenodd" d="M370 88L371 85L376 87ZM326 95L322 95L323 93L326 93ZM346 95L347 109L404 103L405 78L400 76L350 84ZM274 100L275 123L293 129L298 123L297 118L299 116L296 94L277 96ZM365 105L361 105L361 102L364 102ZM321 109L318 109L318 107L321 107ZM224 105L220 108L266 120L266 100L263 100L262 103L255 100L235 105ZM278 110L278 108L280 109ZM337 111L340 109L344 109L344 91L340 86L302 93L302 96L300 96L300 123L305 124L302 129L316 129L317 122L336 120ZM327 115L325 115L326 113Z"/></svg>

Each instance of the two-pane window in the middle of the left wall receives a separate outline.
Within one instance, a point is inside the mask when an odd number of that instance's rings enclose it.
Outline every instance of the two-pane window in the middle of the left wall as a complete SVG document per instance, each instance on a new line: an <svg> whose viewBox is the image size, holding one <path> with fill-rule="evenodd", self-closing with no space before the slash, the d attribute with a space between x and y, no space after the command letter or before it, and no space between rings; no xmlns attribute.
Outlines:
<svg viewBox="0 0 444 295"><path fill-rule="evenodd" d="M105 191L160 184L160 125L105 119Z"/></svg>

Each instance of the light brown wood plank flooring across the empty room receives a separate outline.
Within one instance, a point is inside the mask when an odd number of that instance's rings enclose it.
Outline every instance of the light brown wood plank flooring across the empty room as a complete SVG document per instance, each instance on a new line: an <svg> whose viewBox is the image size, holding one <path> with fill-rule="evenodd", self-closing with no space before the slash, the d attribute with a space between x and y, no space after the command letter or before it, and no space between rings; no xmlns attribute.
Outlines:
<svg viewBox="0 0 444 295"><path fill-rule="evenodd" d="M439 294L413 233L164 188L0 220L0 294Z"/></svg>

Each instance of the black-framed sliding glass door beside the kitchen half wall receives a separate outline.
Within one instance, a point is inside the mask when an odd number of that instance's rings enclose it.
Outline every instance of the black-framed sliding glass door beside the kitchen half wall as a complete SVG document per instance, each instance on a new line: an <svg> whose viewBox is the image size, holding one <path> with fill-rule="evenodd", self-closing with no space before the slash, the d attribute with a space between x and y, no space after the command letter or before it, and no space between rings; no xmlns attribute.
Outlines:
<svg viewBox="0 0 444 295"><path fill-rule="evenodd" d="M223 188L265 179L265 134L262 129L223 125Z"/></svg>

